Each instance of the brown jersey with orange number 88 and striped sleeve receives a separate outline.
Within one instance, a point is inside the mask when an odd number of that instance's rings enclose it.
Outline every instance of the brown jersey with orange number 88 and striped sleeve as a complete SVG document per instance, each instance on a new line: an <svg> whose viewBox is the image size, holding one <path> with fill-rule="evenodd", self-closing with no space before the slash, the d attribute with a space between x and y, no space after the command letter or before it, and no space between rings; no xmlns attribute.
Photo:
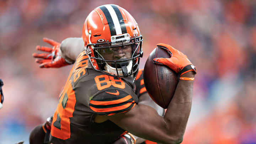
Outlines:
<svg viewBox="0 0 256 144"><path fill-rule="evenodd" d="M82 52L70 71L53 116L53 144L110 144L125 130L107 120L94 123L98 115L131 110L138 103L133 77L115 78L92 68ZM140 88L141 85L138 85ZM143 90L142 90L143 91Z"/></svg>

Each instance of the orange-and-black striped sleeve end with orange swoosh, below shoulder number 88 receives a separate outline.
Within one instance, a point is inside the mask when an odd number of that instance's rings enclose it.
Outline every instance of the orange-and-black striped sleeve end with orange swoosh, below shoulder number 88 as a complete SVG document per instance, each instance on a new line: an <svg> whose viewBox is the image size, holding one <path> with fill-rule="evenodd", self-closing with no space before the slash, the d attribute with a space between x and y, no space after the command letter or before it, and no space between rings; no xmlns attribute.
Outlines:
<svg viewBox="0 0 256 144"><path fill-rule="evenodd" d="M133 97L122 90L105 90L90 99L90 109L99 115L111 116L126 112L136 105Z"/></svg>

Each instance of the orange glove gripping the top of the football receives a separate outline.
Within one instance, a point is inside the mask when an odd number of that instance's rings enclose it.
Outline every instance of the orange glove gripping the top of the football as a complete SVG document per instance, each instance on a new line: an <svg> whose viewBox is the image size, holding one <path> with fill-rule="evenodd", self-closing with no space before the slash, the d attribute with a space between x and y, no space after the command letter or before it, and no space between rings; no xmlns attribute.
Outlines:
<svg viewBox="0 0 256 144"><path fill-rule="evenodd" d="M188 60L187 56L177 49L171 47L168 44L159 43L159 48L165 49L170 55L170 58L154 58L153 62L156 64L166 65L180 76L188 71L196 71L196 67Z"/></svg>

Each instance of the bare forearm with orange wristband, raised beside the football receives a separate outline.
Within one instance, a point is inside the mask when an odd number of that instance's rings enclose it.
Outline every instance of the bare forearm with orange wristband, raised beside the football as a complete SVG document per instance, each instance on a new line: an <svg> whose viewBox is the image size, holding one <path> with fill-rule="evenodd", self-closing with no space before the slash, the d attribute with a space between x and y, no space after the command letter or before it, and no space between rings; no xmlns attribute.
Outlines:
<svg viewBox="0 0 256 144"><path fill-rule="evenodd" d="M194 72L188 72L183 77L194 77ZM191 111L193 81L180 80L164 116L170 135L175 135L177 143L182 142Z"/></svg>

